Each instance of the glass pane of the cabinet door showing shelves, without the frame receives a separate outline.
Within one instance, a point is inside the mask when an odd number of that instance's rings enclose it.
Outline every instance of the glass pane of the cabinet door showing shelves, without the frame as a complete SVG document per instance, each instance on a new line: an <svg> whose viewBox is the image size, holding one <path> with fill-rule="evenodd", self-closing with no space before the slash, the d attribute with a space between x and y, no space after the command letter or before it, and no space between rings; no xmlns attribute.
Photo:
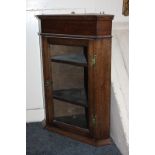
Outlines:
<svg viewBox="0 0 155 155"><path fill-rule="evenodd" d="M84 47L51 45L54 119L87 128L87 56Z"/></svg>

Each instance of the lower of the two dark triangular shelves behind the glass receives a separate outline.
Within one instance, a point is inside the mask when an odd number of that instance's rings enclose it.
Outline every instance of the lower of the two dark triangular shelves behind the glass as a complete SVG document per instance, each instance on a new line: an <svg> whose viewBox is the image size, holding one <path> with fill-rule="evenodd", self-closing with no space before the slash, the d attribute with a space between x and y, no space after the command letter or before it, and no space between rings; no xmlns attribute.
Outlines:
<svg viewBox="0 0 155 155"><path fill-rule="evenodd" d="M87 107L87 97L84 89L63 89L53 91L53 98L71 104Z"/></svg>

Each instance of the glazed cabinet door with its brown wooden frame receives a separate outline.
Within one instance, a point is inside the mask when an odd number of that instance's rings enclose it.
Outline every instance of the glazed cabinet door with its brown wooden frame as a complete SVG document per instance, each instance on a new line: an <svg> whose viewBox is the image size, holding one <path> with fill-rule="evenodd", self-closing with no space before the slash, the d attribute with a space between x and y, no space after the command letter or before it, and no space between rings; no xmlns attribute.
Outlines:
<svg viewBox="0 0 155 155"><path fill-rule="evenodd" d="M93 42L42 37L46 123L93 136Z"/></svg>

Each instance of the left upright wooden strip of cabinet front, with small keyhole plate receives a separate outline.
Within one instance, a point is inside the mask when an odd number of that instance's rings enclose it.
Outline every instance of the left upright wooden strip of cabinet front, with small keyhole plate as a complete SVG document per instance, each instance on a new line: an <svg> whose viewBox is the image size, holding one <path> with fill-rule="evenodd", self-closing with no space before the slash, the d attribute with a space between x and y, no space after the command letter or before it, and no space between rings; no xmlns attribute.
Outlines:
<svg viewBox="0 0 155 155"><path fill-rule="evenodd" d="M42 37L42 65L44 75L44 94L45 94L45 113L46 124L53 121L53 104L52 104L52 74L49 62L50 54L47 38Z"/></svg>

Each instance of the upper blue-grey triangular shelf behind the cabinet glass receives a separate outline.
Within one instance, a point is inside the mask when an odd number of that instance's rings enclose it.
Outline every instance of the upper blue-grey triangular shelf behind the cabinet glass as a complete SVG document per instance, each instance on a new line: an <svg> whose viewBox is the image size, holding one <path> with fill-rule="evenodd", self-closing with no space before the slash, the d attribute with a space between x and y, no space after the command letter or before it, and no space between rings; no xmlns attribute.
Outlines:
<svg viewBox="0 0 155 155"><path fill-rule="evenodd" d="M83 54L65 54L53 56L51 61L87 67L87 60Z"/></svg>

